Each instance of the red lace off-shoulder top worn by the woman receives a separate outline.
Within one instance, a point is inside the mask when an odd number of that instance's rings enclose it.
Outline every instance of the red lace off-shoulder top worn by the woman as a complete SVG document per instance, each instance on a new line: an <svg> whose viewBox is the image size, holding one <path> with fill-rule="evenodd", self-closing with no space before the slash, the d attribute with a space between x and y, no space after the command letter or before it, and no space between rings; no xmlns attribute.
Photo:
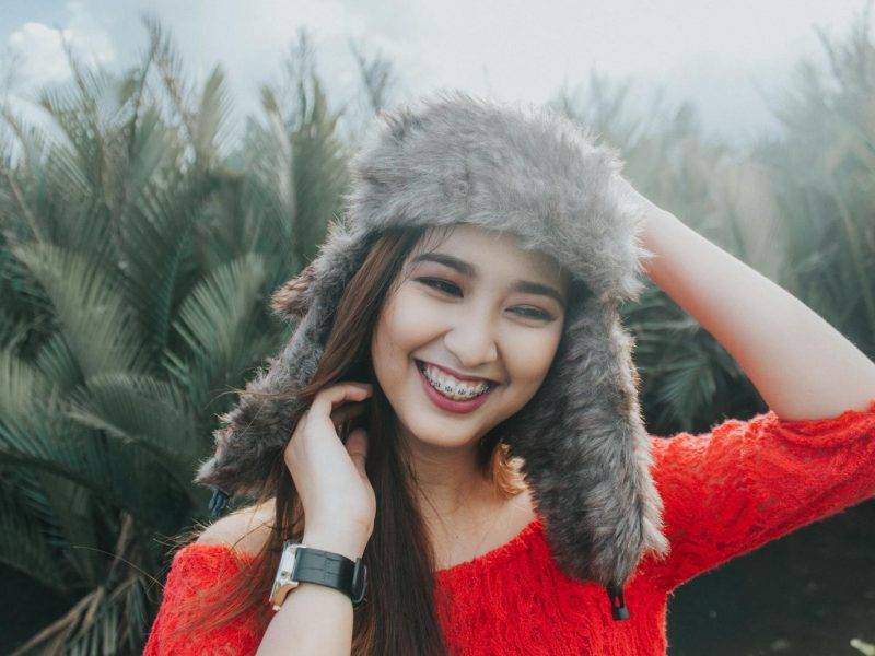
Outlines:
<svg viewBox="0 0 875 656"><path fill-rule="evenodd" d="M730 419L710 433L651 437L654 482L672 549L645 554L625 588L631 617L614 621L605 588L565 576L536 518L510 542L435 572L435 608L454 655L664 655L669 593L693 576L875 496L875 400L865 411L783 421ZM254 654L254 619L170 644L190 585L221 586L229 549L190 543L173 558L144 656Z"/></svg>

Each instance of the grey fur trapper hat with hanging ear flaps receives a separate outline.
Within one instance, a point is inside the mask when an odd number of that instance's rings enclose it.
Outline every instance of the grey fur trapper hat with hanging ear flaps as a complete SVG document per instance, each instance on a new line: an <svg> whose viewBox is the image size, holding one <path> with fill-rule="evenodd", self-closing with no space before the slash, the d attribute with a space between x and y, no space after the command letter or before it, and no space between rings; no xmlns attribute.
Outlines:
<svg viewBox="0 0 875 656"><path fill-rule="evenodd" d="M644 550L664 554L668 542L650 473L634 340L618 309L640 296L642 260L652 257L638 242L641 210L610 184L623 163L595 145L588 128L547 109L460 91L419 103L382 113L368 133L352 161L346 215L308 267L310 284L300 294L290 286L285 305L283 289L275 294L278 312L300 318L294 335L247 390L311 380L343 290L386 229L469 223L513 233L522 248L552 256L590 293L567 308L550 374L502 440L524 460L557 565L605 586L612 617L626 619L622 587ZM294 403L244 397L222 415L215 454L195 478L215 489L214 514L229 495L259 491L292 433Z"/></svg>

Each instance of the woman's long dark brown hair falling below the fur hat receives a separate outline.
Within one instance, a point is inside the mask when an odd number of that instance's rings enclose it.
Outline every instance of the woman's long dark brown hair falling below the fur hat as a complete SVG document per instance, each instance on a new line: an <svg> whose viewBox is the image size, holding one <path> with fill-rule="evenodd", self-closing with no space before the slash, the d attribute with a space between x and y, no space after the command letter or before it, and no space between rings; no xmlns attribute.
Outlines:
<svg viewBox="0 0 875 656"><path fill-rule="evenodd" d="M354 613L352 655L447 653L434 610L435 559L427 528L417 506L416 480L404 441L398 438L395 414L377 384L371 363L371 337L380 309L393 286L400 282L406 257L423 237L443 233L443 229L402 227L381 234L372 245L362 267L353 276L338 305L335 323L316 373L306 387L288 395L303 398L308 406L323 388L343 382L372 383L374 394L365 412L369 434L366 472L376 496L376 516L363 561L369 569L365 602ZM306 273L299 278L307 284ZM284 293L288 295L289 289ZM289 302L289 298L285 298ZM241 394L250 394L237 390ZM265 395L265 396L288 396ZM509 421L509 420L508 420ZM478 443L477 465L483 477L506 497L525 489L518 462L510 457L501 442L503 422ZM354 427L342 425L338 433L346 441ZM275 517L269 538L256 554L241 558L235 552L238 574L231 584L231 595L211 598L209 590L198 590L187 598L185 609L175 609L184 621L174 628L179 635L192 635L226 624L243 616L257 616L267 626L272 613L267 596L279 564L282 542L303 536L303 509L282 457L265 485L257 504L275 500ZM270 493L272 491L272 494ZM201 529L189 531L177 541L179 547L197 538Z"/></svg>

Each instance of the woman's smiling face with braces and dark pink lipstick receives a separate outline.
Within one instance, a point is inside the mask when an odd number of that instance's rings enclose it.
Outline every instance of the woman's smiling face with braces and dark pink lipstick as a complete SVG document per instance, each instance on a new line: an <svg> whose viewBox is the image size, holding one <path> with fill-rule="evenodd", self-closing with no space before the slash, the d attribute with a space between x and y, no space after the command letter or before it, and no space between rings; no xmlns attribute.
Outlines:
<svg viewBox="0 0 875 656"><path fill-rule="evenodd" d="M514 414L547 375L567 297L567 274L511 234L459 224L436 248L423 239L371 342L401 427L457 447Z"/></svg>

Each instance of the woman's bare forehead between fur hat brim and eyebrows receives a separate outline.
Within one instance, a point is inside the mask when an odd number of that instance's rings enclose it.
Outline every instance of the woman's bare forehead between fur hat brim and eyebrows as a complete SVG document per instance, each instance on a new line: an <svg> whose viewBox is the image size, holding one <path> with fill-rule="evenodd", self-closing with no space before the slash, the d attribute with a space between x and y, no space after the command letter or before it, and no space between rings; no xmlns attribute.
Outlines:
<svg viewBox="0 0 875 656"><path fill-rule="evenodd" d="M454 255L479 268L499 267L516 273L563 284L567 273L549 255L526 250L513 233L465 223L429 229L410 257L439 251Z"/></svg>

